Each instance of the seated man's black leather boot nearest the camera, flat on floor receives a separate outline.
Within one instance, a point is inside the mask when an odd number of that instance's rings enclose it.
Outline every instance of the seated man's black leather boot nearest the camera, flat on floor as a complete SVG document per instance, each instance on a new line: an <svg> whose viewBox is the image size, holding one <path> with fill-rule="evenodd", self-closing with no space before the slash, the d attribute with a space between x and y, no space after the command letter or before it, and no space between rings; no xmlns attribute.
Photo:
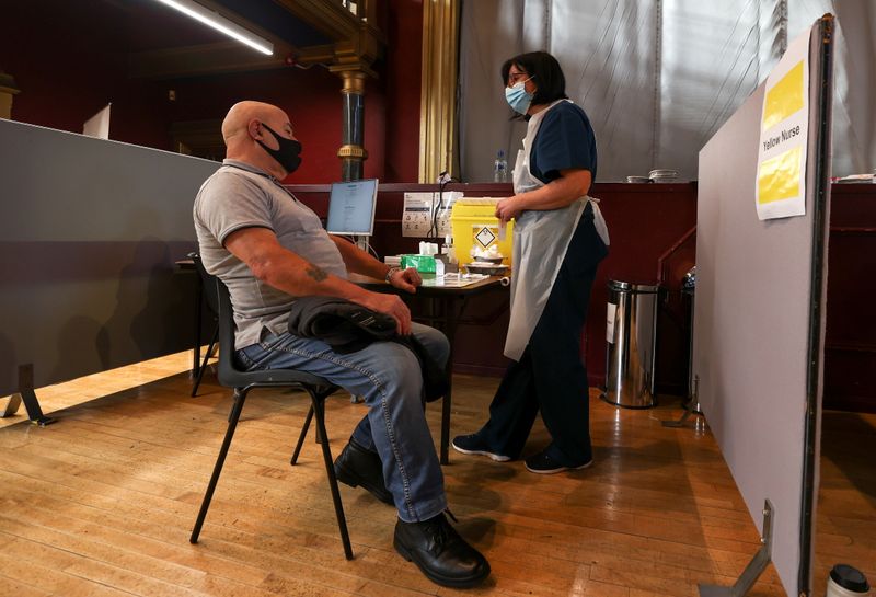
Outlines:
<svg viewBox="0 0 876 597"><path fill-rule="evenodd" d="M395 523L395 551L434 583L468 588L489 576L489 563L450 526L443 513L422 523Z"/></svg>

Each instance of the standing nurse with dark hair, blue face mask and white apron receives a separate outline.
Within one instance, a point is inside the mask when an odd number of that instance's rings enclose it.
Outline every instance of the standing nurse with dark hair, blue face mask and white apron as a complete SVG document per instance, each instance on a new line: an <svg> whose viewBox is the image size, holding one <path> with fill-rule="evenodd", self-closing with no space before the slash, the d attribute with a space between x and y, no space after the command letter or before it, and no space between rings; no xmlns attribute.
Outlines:
<svg viewBox="0 0 876 597"><path fill-rule="evenodd" d="M584 469L593 461L589 387L580 334L609 236L597 199L596 137L584 110L566 96L556 59L544 51L502 66L505 96L528 120L514 169L515 195L496 205L515 220L508 367L477 433L453 438L462 454L520 458L541 412L551 444L526 459L534 473Z"/></svg>

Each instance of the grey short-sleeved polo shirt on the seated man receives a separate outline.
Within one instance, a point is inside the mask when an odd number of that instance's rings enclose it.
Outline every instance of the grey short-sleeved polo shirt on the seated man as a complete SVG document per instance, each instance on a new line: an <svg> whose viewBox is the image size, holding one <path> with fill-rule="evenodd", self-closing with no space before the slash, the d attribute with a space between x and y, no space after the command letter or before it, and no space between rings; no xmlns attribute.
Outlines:
<svg viewBox="0 0 876 597"><path fill-rule="evenodd" d="M234 344L244 348L267 332L286 331L295 297L256 278L224 248L231 232L268 228L283 246L325 272L346 278L347 269L316 214L276 179L244 162L222 163L198 191L193 215L204 266L228 286L237 324Z"/></svg>

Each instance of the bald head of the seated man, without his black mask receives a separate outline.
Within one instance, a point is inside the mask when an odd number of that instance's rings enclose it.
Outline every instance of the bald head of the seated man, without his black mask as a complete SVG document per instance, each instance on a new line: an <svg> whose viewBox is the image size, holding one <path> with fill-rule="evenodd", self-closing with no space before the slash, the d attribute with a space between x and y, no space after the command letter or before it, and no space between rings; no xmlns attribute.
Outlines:
<svg viewBox="0 0 876 597"><path fill-rule="evenodd" d="M283 179L287 172L278 170L276 160L258 145L261 141L272 149L279 146L263 125L277 135L295 138L289 117L279 107L253 101L239 102L231 106L222 120L222 139L228 148L226 157L250 163Z"/></svg>

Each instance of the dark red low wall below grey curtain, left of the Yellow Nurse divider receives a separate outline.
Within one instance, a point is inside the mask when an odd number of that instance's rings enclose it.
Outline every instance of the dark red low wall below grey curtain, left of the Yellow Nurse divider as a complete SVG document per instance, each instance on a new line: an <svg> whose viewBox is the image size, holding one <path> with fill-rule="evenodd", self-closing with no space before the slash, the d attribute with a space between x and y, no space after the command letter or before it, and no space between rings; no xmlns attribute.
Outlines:
<svg viewBox="0 0 876 597"><path fill-rule="evenodd" d="M448 191L466 196L506 196L510 184L451 184ZM327 186L290 186L296 196L321 217L327 211ZM379 255L416 250L422 239L402 237L402 206L407 191L437 191L437 185L381 185L374 221L373 248ZM597 183L591 195L602 199L611 236L609 256L599 266L590 309L581 333L581 357L590 384L606 381L606 305L608 280L655 284L665 288L658 309L657 390L684 394L688 380L690 313L681 296L681 279L695 261L696 185ZM673 250L675 249L675 250ZM662 267L660 265L662 264ZM423 313L423 306L412 305ZM468 323L470 320L473 323ZM508 359L503 356L508 330L507 296L489 294L471 299L462 313L453 348L459 372L498 376Z"/></svg>

